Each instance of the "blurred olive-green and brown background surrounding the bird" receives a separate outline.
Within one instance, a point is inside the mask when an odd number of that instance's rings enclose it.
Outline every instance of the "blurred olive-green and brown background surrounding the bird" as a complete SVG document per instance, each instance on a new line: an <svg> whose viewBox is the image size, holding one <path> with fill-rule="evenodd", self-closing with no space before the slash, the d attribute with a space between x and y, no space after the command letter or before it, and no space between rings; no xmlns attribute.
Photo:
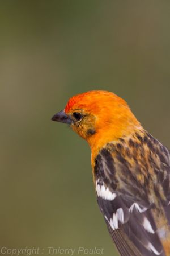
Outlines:
<svg viewBox="0 0 170 256"><path fill-rule="evenodd" d="M170 147L170 2L0 7L1 246L117 255L97 206L90 148L50 118L74 94L109 90Z"/></svg>

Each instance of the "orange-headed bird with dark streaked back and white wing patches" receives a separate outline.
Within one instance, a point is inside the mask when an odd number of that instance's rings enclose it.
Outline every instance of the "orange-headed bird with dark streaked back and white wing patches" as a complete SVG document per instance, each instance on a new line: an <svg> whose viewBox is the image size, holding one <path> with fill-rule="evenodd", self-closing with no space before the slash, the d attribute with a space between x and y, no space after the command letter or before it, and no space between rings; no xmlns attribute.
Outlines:
<svg viewBox="0 0 170 256"><path fill-rule="evenodd" d="M170 255L170 153L121 97L104 90L73 96L53 121L91 148L97 203L122 256Z"/></svg>

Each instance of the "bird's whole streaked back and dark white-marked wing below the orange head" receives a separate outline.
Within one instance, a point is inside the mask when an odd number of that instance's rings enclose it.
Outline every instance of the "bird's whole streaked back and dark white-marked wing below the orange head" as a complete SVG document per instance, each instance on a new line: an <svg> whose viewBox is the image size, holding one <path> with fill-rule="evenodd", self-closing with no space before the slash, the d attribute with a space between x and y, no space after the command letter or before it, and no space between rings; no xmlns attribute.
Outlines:
<svg viewBox="0 0 170 256"><path fill-rule="evenodd" d="M139 130L94 160L97 200L121 255L170 255L168 149Z"/></svg>

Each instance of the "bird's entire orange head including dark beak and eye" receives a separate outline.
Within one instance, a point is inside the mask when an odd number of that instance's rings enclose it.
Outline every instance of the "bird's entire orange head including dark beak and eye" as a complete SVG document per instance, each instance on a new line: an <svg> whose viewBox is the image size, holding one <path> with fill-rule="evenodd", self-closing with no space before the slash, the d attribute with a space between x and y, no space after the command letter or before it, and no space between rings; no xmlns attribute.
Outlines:
<svg viewBox="0 0 170 256"><path fill-rule="evenodd" d="M91 147L103 146L140 127L122 98L101 90L73 96L52 120L68 123Z"/></svg>

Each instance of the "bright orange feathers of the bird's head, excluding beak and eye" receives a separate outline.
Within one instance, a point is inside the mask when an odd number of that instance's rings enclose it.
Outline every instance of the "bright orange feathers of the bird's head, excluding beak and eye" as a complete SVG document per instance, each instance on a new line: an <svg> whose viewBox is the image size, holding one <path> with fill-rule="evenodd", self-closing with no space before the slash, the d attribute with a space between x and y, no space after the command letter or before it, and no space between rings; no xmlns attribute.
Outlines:
<svg viewBox="0 0 170 256"><path fill-rule="evenodd" d="M90 144L94 157L99 149L108 142L116 141L123 135L129 135L137 127L140 127L140 123L128 104L111 92L94 90L73 96L68 101L65 112L70 114L76 110L82 110L95 117L86 127L86 129L91 127L95 129L96 133L93 136L88 136L83 125L80 126L80 129L75 130ZM75 129L74 126L72 127Z"/></svg>

